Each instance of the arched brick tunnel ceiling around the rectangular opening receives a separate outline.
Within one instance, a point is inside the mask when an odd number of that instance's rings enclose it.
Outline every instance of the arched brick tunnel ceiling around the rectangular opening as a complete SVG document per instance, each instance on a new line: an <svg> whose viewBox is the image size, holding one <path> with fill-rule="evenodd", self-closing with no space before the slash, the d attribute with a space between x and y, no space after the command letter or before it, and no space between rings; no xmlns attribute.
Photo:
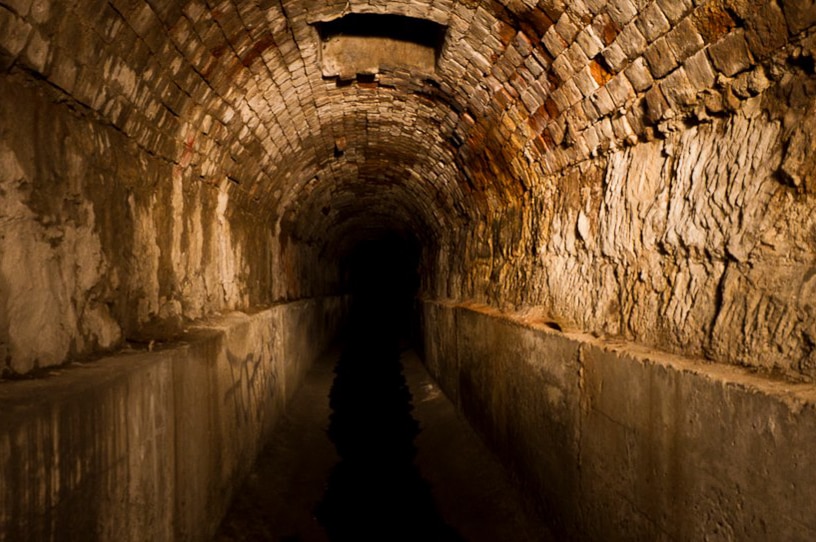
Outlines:
<svg viewBox="0 0 816 542"><path fill-rule="evenodd" d="M651 137L813 24L807 4L6 0L0 27L4 63L295 236L393 217L430 239ZM326 77L314 24L348 13L443 25L436 66Z"/></svg>

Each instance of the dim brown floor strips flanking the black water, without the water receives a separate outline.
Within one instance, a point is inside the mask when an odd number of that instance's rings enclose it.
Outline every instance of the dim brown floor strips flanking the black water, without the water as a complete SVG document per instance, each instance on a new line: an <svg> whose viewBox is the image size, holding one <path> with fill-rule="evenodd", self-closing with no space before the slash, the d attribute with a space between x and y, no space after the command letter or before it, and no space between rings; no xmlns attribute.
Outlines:
<svg viewBox="0 0 816 542"><path fill-rule="evenodd" d="M334 352L315 364L273 441L236 495L216 541L329 540L316 510L326 500L328 480L340 462L327 435L329 394L339 357ZM400 361L412 396L412 415L420 429L414 439L414 464L430 488L435 513L448 529L444 535L418 540L553 540L548 529L525 511L504 468L457 414L416 354L403 351ZM337 492L335 488L335 498ZM395 532L379 539L410 540L413 536ZM361 539L374 537L355 540Z"/></svg>

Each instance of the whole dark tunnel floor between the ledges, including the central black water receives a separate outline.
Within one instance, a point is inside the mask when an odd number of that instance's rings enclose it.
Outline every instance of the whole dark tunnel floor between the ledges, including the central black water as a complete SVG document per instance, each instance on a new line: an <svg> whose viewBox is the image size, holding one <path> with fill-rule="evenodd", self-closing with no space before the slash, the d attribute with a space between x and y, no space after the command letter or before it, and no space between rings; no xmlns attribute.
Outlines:
<svg viewBox="0 0 816 542"><path fill-rule="evenodd" d="M553 540L416 353L315 364L214 540Z"/></svg>

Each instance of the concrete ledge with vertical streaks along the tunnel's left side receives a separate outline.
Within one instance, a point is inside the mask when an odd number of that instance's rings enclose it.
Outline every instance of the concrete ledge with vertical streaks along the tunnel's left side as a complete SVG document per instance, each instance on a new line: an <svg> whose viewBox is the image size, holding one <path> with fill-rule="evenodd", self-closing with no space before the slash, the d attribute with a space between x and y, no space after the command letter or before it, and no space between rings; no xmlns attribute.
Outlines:
<svg viewBox="0 0 816 542"><path fill-rule="evenodd" d="M0 540L211 538L344 304L233 313L161 351L0 384Z"/></svg>

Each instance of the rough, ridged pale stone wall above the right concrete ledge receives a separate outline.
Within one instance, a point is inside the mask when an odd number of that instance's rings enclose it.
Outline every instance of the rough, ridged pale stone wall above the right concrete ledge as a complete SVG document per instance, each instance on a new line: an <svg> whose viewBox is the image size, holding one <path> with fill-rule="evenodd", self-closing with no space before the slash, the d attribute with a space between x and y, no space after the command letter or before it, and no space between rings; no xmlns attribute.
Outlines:
<svg viewBox="0 0 816 542"><path fill-rule="evenodd" d="M812 381L814 113L814 79L791 74L544 177L461 233L435 295Z"/></svg>

